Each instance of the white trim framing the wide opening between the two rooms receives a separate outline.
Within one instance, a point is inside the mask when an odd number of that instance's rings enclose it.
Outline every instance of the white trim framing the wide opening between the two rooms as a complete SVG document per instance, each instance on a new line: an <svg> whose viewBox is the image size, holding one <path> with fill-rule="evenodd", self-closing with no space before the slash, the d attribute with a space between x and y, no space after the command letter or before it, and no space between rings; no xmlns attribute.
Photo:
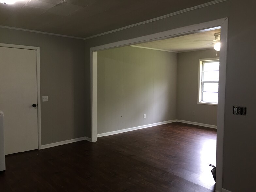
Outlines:
<svg viewBox="0 0 256 192"><path fill-rule="evenodd" d="M226 60L227 60L227 34L228 18L217 19L200 24L189 25L160 33L137 37L129 40L118 41L96 47L91 47L91 141L97 141L97 51L162 40L171 37L208 31L221 27L221 50L219 70L219 102L217 119L217 154L216 154L216 191L222 190L222 165L223 165L223 138L224 138L224 110L225 110L225 85L226 85Z"/></svg>

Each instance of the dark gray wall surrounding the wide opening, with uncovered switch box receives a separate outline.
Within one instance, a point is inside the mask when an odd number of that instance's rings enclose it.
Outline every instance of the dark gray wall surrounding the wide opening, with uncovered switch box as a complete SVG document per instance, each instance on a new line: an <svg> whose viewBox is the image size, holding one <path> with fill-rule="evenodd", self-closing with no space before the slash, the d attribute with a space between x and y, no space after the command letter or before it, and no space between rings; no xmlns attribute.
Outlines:
<svg viewBox="0 0 256 192"><path fill-rule="evenodd" d="M255 1L230 0L186 13L125 29L85 41L86 93L90 102L90 47L131 39L228 17L228 55L224 125L223 188L233 191L255 191L256 178L256 12ZM237 77L243 77L239 80ZM238 90L242 94L238 94ZM248 107L247 116L232 114L232 106ZM86 114L90 110L86 109ZM90 129L86 130L90 136Z"/></svg>

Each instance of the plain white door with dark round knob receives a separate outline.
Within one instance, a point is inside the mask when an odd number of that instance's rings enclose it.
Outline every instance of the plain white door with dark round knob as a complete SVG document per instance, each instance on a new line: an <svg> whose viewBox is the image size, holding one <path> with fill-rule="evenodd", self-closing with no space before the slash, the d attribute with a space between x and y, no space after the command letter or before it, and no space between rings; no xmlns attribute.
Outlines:
<svg viewBox="0 0 256 192"><path fill-rule="evenodd" d="M36 51L0 47L5 154L38 149Z"/></svg>

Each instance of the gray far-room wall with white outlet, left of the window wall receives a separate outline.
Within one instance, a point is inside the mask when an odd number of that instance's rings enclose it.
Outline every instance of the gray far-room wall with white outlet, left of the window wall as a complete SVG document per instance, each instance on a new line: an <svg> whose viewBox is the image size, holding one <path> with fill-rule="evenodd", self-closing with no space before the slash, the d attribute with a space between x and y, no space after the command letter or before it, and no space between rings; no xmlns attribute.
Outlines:
<svg viewBox="0 0 256 192"><path fill-rule="evenodd" d="M177 53L98 51L98 134L176 119L176 79Z"/></svg>

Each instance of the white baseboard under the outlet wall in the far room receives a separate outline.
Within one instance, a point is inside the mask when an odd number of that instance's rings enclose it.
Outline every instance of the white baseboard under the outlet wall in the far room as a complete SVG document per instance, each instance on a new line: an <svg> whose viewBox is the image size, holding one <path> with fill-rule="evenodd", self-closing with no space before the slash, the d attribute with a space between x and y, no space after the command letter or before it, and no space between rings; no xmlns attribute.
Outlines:
<svg viewBox="0 0 256 192"><path fill-rule="evenodd" d="M142 126L138 126L138 127L132 127L132 128L128 128L128 129L121 129L121 130L117 130L117 131L111 131L111 132L106 132L106 133L100 133L100 134L97 134L97 137L104 137L104 136L114 135L114 134L118 134L118 133L124 133L124 132L128 132L128 131L134 131L134 130L138 130L138 129L144 129L144 128L153 127L153 126L157 126L157 125L163 125L163 124L167 124L167 123L173 123L173 122L176 122L176 121L177 121L177 120L169 120L169 121L163 121L163 122L153 123L153 124L149 124L149 125L142 125Z"/></svg>

